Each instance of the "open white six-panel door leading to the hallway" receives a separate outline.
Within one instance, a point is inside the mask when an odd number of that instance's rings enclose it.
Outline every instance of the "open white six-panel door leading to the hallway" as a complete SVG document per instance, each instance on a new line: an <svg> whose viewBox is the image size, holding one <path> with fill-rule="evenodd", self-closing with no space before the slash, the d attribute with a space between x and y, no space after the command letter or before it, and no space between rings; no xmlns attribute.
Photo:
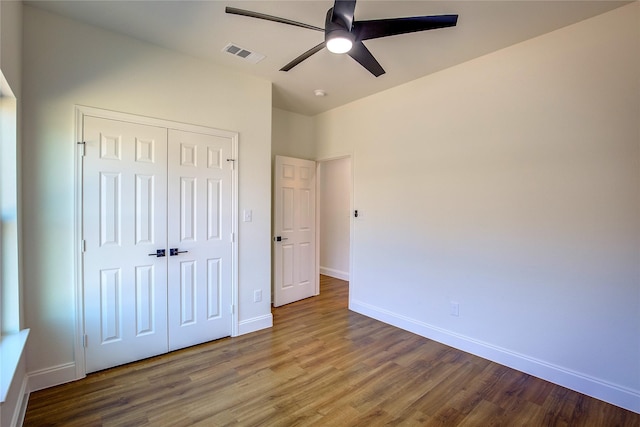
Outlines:
<svg viewBox="0 0 640 427"><path fill-rule="evenodd" d="M276 156L274 305L317 295L316 164Z"/></svg>

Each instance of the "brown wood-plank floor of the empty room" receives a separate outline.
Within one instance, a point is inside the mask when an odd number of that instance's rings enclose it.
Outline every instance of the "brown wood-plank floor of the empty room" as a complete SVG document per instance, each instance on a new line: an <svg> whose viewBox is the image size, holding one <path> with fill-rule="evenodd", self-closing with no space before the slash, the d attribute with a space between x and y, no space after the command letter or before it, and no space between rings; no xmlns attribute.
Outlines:
<svg viewBox="0 0 640 427"><path fill-rule="evenodd" d="M31 394L25 426L640 426L640 415L347 310L348 284L274 327Z"/></svg>

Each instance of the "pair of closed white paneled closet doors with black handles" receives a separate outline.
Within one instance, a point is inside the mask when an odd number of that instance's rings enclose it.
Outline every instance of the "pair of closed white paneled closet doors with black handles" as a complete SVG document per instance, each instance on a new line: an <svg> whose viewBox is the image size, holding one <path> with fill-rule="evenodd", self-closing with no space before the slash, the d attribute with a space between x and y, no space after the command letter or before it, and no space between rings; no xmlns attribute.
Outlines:
<svg viewBox="0 0 640 427"><path fill-rule="evenodd" d="M231 334L232 139L84 116L86 372Z"/></svg>

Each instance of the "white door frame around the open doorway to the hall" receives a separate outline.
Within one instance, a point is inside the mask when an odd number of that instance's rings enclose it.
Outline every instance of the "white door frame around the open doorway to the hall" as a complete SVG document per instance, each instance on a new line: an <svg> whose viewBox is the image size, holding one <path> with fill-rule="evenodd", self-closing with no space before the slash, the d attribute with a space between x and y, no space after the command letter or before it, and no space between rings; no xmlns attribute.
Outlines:
<svg viewBox="0 0 640 427"><path fill-rule="evenodd" d="M349 176L349 308L351 308L351 289L354 283L353 274L353 241L354 241L354 177L355 177L355 161L353 153L339 154L329 157L321 157L316 159L316 276L318 277L318 294L320 294L320 241L322 240L322 229L320 227L320 184L322 182L322 171L320 166L333 160L350 160L350 176Z"/></svg>

